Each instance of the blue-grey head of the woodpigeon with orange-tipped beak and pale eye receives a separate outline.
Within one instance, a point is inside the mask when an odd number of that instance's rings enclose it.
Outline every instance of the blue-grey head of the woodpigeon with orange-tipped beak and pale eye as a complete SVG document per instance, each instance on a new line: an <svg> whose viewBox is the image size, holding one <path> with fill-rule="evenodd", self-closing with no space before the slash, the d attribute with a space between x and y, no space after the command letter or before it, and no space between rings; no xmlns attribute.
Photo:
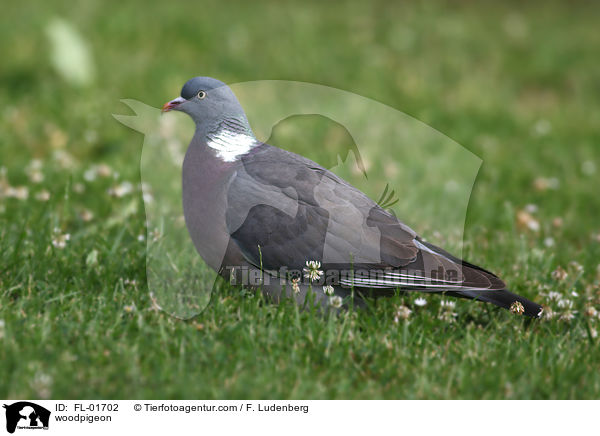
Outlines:
<svg viewBox="0 0 600 436"><path fill-rule="evenodd" d="M244 109L235 94L223 82L212 77L194 77L181 88L181 96L164 104L162 112L188 114L197 127L218 125L224 119L247 123Z"/></svg>

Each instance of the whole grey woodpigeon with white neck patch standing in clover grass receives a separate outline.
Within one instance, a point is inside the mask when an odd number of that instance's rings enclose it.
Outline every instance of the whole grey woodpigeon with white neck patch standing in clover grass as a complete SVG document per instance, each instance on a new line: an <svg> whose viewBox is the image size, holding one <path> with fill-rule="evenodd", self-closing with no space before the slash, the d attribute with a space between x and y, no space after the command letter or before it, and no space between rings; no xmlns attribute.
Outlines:
<svg viewBox="0 0 600 436"><path fill-rule="evenodd" d="M334 306L397 290L445 292L541 315L540 305L426 242L331 171L257 140L223 82L190 79L162 110L196 124L183 162L185 222L204 261L232 283Z"/></svg>

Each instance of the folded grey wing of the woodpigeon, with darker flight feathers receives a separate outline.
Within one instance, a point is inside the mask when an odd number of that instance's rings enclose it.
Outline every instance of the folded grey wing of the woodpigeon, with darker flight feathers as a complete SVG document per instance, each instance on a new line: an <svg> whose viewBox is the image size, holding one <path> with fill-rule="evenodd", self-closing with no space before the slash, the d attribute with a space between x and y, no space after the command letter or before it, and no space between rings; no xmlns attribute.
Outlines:
<svg viewBox="0 0 600 436"><path fill-rule="evenodd" d="M227 228L245 258L265 270L317 260L371 288L490 289L504 283L421 241L358 189L301 156L262 145L242 158L229 187ZM482 272L480 272L482 271ZM497 279L497 281L496 281Z"/></svg>

